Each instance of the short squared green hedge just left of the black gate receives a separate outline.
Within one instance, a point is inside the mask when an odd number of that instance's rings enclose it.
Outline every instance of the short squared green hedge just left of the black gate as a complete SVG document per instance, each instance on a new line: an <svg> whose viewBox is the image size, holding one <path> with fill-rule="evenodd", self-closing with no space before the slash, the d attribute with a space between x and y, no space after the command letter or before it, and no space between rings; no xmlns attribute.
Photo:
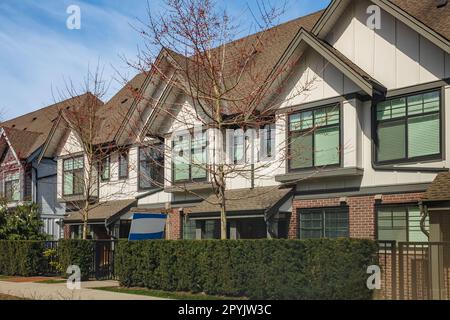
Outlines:
<svg viewBox="0 0 450 320"><path fill-rule="evenodd" d="M89 240L59 240L57 259L62 275L67 276L68 266L77 265L81 270L81 280L88 280L92 268L93 245Z"/></svg>

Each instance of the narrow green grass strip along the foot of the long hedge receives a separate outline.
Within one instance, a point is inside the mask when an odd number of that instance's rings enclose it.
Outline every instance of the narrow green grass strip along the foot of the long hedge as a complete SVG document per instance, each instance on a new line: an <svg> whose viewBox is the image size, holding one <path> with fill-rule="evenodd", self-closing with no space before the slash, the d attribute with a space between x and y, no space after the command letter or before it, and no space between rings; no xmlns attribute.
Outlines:
<svg viewBox="0 0 450 320"><path fill-rule="evenodd" d="M105 287L95 288L95 290L105 290L111 292L138 294L143 296L151 296L157 298L175 299L175 300L243 300L244 298L210 296L201 293L189 292L171 292L162 290L152 290L146 288L124 288L124 287Z"/></svg>

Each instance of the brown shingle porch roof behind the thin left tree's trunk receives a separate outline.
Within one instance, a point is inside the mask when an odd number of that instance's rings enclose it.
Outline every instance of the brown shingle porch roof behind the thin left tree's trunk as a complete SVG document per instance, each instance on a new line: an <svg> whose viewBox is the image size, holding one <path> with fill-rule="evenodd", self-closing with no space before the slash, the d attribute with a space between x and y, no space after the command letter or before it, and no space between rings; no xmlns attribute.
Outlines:
<svg viewBox="0 0 450 320"><path fill-rule="evenodd" d="M136 203L136 199L114 200L97 203L93 205L93 207L89 211L88 221L104 221L105 219L108 219L115 214L127 213L131 206L135 205ZM71 212L66 218L64 218L64 222L69 223L82 220L83 219L80 211Z"/></svg>

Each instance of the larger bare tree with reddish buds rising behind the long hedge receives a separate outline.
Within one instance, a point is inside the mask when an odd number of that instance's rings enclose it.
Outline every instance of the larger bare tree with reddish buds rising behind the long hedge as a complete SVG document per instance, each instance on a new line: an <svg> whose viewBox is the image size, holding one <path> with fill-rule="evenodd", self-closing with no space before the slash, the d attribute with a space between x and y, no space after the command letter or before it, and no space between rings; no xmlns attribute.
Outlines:
<svg viewBox="0 0 450 320"><path fill-rule="evenodd" d="M211 0L166 0L162 13L154 14L148 10L148 20L140 21L140 26L136 27L144 38L144 45L137 61L128 63L144 73L150 70L156 79L155 85L156 82L164 82L170 87L172 96L186 97L192 106L190 111L183 109L180 112L184 100L161 101L158 94L146 97L153 113L172 119L180 127L192 128L200 123L203 129L220 133L230 128L247 132L276 123L275 111L281 102L273 97L282 92L289 74L298 64L298 60L277 64L285 48L277 46L283 35L272 26L283 15L284 8L284 3L280 6L267 0L259 1L258 12L250 10L254 17L250 28L256 33L239 40L236 38L248 24L233 19ZM161 63L162 60L166 64ZM315 81L314 76L309 78L286 99L308 92ZM147 129L151 136L160 134L152 131L151 127ZM195 142L198 137L194 135L190 139ZM213 194L216 195L213 203L220 206L221 238L226 239L227 203L233 200L227 198L225 192L227 180L233 177L264 179L270 176L267 170L276 170L284 161L279 157L276 163L252 159L247 164L236 157L230 160L230 156L223 152L223 141L217 140L217 136L215 139L212 161L206 163L204 159L193 159L195 157L190 152L184 157L186 163L196 170L206 172L212 182ZM249 140L245 149L253 150L253 140L251 137ZM174 143L176 141L170 140L163 146L165 156L172 162L183 157L181 153L173 152ZM245 139L242 143L246 144ZM287 144L280 141L277 147L283 148L276 152L283 153L286 159L289 156ZM249 154L255 157L253 151ZM202 197L186 184L178 184L178 187Z"/></svg>

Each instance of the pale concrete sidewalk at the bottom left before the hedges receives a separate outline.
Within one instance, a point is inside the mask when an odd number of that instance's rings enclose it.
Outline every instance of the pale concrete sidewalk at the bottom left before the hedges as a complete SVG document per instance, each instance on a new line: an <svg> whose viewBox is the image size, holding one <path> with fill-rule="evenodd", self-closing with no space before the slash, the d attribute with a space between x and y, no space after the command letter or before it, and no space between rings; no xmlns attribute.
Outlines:
<svg viewBox="0 0 450 320"><path fill-rule="evenodd" d="M69 290L66 283L33 283L0 281L0 293L33 300L164 300L136 294L95 290L116 287L117 281L85 281L80 290Z"/></svg>

